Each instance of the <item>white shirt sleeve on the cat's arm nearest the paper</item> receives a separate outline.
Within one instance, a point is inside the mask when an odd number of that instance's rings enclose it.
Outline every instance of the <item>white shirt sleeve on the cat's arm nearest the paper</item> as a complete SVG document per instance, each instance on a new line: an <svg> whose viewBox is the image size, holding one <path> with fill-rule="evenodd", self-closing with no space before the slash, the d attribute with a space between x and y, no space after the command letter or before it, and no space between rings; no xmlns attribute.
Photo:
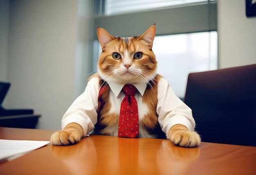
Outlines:
<svg viewBox="0 0 256 175"><path fill-rule="evenodd" d="M93 78L87 83L85 91L65 112L61 122L62 129L67 124L75 122L80 124L85 135L88 135L97 123L98 94L99 79Z"/></svg>

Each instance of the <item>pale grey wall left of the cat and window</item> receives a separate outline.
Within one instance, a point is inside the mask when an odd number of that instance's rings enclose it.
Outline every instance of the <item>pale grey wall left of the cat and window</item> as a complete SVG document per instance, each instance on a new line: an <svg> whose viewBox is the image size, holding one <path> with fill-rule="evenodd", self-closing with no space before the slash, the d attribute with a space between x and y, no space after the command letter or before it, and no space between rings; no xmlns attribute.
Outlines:
<svg viewBox="0 0 256 175"><path fill-rule="evenodd" d="M80 76L76 70L90 56L93 33L86 26L93 26L91 3L10 0L7 77L11 88L6 108L34 109L42 115L40 129L61 129L64 112L85 88L90 68L85 64ZM79 7L88 11L81 13Z"/></svg>

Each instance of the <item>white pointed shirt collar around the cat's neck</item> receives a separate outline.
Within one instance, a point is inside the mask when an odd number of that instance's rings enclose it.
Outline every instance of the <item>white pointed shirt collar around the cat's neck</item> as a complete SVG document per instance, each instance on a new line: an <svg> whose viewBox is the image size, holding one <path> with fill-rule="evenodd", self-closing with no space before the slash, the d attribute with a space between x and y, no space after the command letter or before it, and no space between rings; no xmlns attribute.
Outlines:
<svg viewBox="0 0 256 175"><path fill-rule="evenodd" d="M109 85L110 89L112 90L112 92L115 94L115 96L118 96L125 84L110 81L110 82L108 82L108 85ZM137 90L139 91L139 93L141 94L141 96L143 96L143 94L147 88L147 83L142 82L142 83L135 83L132 85L134 85L137 88Z"/></svg>

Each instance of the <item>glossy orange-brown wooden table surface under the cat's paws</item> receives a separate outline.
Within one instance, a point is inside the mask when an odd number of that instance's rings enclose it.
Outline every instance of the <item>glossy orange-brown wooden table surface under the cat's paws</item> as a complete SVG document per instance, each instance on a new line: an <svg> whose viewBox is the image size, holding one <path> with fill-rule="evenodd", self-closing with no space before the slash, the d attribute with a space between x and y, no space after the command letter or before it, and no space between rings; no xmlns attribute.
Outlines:
<svg viewBox="0 0 256 175"><path fill-rule="evenodd" d="M1 128L0 139L49 141L54 131ZM90 135L72 146L48 144L0 163L0 175L255 175L256 147Z"/></svg>

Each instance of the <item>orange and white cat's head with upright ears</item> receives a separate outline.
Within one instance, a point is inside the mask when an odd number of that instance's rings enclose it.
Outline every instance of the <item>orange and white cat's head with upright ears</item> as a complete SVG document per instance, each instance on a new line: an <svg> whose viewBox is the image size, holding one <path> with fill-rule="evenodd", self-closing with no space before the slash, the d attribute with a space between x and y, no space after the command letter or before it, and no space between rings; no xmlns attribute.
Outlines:
<svg viewBox="0 0 256 175"><path fill-rule="evenodd" d="M157 61L152 51L155 25L141 36L120 38L98 28L97 34L102 53L99 56L98 72L107 82L141 83L156 76Z"/></svg>

